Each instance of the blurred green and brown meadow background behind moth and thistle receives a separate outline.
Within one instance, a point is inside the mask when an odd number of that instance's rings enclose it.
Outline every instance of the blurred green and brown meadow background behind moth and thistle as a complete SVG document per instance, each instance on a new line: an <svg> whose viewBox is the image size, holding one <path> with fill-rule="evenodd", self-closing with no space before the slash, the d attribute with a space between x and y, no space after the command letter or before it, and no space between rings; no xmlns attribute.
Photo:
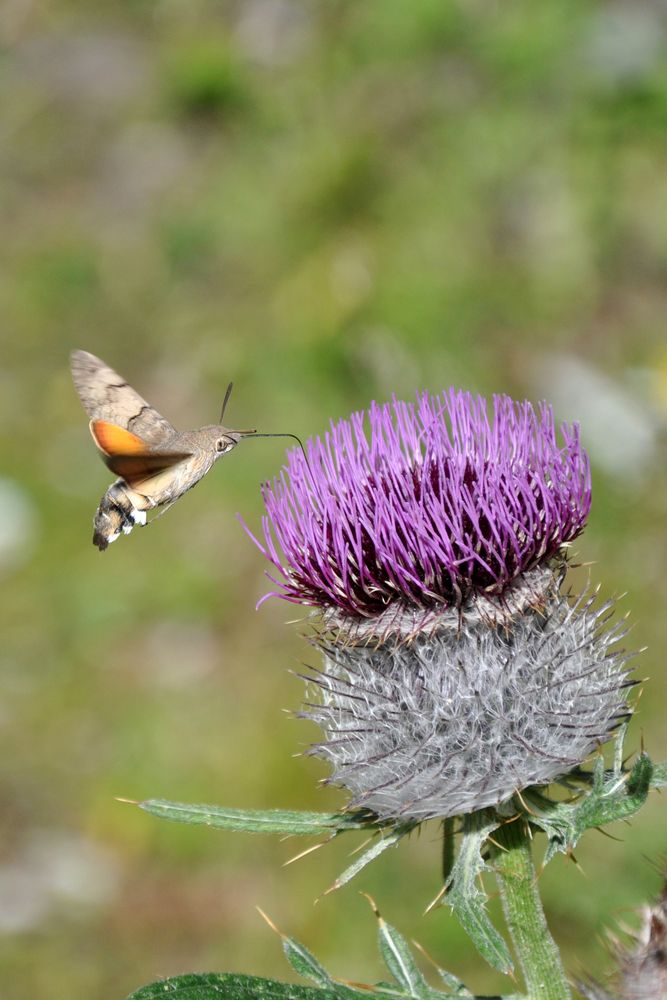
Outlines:
<svg viewBox="0 0 667 1000"><path fill-rule="evenodd" d="M426 826L314 905L358 841L161 823L115 797L329 809L288 673L311 654L235 513L280 441L243 444L106 554L109 476L68 353L179 427L326 429L456 384L579 419L577 555L648 646L632 727L667 756L667 12L625 0L91 0L0 6L0 990L121 998L183 971L289 978L255 906L340 976L384 914L479 991ZM570 970L654 895L654 796L541 884ZM495 905L495 904L494 904ZM494 910L494 912L496 912Z"/></svg>

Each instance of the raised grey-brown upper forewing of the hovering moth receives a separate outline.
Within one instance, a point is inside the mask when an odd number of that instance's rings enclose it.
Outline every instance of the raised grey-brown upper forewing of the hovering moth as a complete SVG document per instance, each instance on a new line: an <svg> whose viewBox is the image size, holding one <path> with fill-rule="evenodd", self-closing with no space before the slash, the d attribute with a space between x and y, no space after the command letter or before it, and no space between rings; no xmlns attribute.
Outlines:
<svg viewBox="0 0 667 1000"><path fill-rule="evenodd" d="M72 351L70 365L74 386L91 420L105 420L153 446L176 433L162 414L94 354Z"/></svg>

